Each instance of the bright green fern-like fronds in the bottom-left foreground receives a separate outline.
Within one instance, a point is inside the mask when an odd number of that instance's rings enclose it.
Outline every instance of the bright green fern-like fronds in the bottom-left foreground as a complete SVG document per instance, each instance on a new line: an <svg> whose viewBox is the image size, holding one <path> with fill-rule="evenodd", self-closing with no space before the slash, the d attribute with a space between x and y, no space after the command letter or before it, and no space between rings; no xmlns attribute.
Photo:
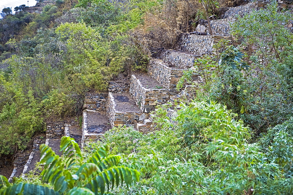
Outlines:
<svg viewBox="0 0 293 195"><path fill-rule="evenodd" d="M40 176L53 189L16 179L14 184L9 184L1 175L1 194L104 194L105 190L118 187L120 182L129 186L139 179L137 170L119 165L121 156L108 155L106 145L88 159L84 159L73 138L62 137L60 148L63 157L44 144L40 147L40 156L43 156L40 163L44 163Z"/></svg>

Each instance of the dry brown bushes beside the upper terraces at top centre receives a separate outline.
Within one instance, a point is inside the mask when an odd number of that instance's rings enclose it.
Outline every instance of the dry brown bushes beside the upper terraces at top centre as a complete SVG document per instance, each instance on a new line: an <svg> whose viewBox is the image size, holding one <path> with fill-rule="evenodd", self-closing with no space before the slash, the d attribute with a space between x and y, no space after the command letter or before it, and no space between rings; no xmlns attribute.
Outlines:
<svg viewBox="0 0 293 195"><path fill-rule="evenodd" d="M210 4L209 15L217 13L219 7L244 4L247 0L219 0L217 6ZM165 0L155 11L144 15L144 25L131 32L137 45L146 55L151 48L171 49L183 32L194 31L193 23L205 17L205 11L198 0Z"/></svg>

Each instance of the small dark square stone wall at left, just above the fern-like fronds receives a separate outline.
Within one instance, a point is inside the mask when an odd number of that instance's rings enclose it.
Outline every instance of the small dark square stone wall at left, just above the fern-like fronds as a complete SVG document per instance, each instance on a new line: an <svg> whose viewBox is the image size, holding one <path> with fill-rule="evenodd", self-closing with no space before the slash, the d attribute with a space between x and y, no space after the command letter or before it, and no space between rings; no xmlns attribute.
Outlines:
<svg viewBox="0 0 293 195"><path fill-rule="evenodd" d="M56 139L64 136L64 121L47 122L46 138Z"/></svg>

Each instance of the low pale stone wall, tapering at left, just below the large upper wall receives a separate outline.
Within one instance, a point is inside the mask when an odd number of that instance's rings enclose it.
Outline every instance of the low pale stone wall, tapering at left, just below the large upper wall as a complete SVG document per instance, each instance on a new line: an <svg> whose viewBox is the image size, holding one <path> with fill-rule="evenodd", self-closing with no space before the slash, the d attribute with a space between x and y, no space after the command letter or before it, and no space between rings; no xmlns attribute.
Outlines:
<svg viewBox="0 0 293 195"><path fill-rule="evenodd" d="M194 60L199 58L200 55L173 50L162 50L154 53L153 57L161 59L164 62L168 62L168 64L170 64L172 67L188 69L194 65Z"/></svg>

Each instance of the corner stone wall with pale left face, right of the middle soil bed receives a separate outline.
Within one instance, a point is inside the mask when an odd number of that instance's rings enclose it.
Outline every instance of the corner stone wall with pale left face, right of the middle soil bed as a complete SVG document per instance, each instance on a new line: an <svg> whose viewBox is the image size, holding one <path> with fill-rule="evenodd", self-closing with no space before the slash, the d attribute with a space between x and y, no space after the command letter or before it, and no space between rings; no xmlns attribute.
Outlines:
<svg viewBox="0 0 293 195"><path fill-rule="evenodd" d="M134 75L130 77L129 93L142 112L147 113L153 111L156 105L170 100L168 89L147 89Z"/></svg>

